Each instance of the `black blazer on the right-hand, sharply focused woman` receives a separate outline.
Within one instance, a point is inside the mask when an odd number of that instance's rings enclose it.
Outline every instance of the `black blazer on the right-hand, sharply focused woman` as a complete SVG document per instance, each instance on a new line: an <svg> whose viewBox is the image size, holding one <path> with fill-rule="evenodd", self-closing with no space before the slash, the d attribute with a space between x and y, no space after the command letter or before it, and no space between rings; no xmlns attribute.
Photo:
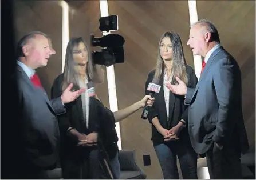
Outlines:
<svg viewBox="0 0 256 180"><path fill-rule="evenodd" d="M195 75L194 70L191 66L187 66L187 77L188 77L188 87L194 87L196 86L196 83L198 82L198 78ZM148 74L148 79L145 83L145 94L149 94L149 91L147 90L148 84L152 82L153 76L155 74L155 70L151 71ZM159 119L160 124L163 128L170 130L172 127L176 126L180 119L183 119L186 121L188 125L188 106L184 105L184 96L173 94L170 91L170 97L169 97L169 123L167 122L167 112L166 112L166 103L164 101L164 90L163 90L163 77L164 70L162 71L161 77L160 77L160 92L155 94L155 102L153 106L149 109L148 113L148 120L150 123L152 123L152 119L154 117L157 117ZM184 141L190 141L189 135L188 135L188 129L187 127L183 129L179 134L180 140ZM159 145L160 143L164 143L163 135L160 134L156 127L152 124L152 141L153 145Z"/></svg>

